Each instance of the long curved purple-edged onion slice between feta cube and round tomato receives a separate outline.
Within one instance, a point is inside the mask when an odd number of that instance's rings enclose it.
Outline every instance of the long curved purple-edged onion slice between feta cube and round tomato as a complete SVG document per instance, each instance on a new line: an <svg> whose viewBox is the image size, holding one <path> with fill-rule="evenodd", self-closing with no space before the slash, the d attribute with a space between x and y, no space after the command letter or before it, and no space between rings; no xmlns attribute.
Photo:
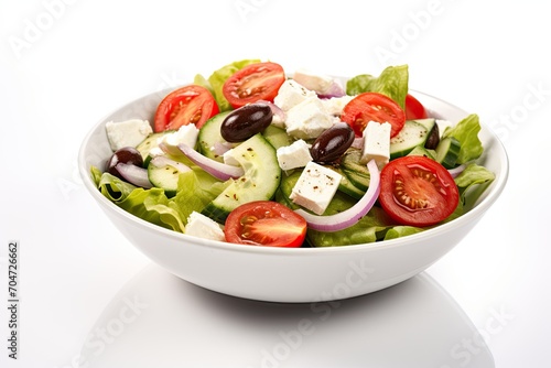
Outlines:
<svg viewBox="0 0 551 368"><path fill-rule="evenodd" d="M371 209L379 197L380 174L375 160L367 163L367 170L369 171L369 187L366 194L347 210L331 216L312 215L304 209L296 209L295 213L304 217L311 229L317 231L338 231L353 226Z"/></svg>

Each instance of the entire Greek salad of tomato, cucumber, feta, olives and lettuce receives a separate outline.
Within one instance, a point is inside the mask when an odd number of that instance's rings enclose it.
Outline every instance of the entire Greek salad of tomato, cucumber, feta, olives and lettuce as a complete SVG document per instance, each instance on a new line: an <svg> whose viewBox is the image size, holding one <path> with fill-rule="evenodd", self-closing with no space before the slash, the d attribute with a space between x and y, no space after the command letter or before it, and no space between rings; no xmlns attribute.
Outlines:
<svg viewBox="0 0 551 368"><path fill-rule="evenodd" d="M342 82L244 59L106 123L98 190L152 224L271 247L385 241L462 216L494 174L478 117L431 117L407 65Z"/></svg>

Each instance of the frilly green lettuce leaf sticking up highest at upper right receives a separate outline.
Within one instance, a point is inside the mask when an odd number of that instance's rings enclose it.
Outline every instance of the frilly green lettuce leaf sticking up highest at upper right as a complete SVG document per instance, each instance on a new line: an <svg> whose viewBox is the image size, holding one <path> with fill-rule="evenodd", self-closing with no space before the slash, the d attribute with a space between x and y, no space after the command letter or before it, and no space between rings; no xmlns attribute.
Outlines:
<svg viewBox="0 0 551 368"><path fill-rule="evenodd" d="M366 91L386 95L393 99L402 109L406 109L406 96L408 95L408 65L388 66L378 77L361 74L348 79L346 94L354 96Z"/></svg>

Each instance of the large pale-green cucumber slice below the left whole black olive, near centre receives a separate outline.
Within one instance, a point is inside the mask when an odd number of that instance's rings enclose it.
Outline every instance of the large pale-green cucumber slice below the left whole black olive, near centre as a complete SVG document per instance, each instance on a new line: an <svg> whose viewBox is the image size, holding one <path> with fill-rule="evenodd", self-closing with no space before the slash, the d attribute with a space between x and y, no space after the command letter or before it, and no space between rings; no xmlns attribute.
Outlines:
<svg viewBox="0 0 551 368"><path fill-rule="evenodd" d="M231 210L245 203L271 199L281 181L276 149L261 133L234 148L233 152L245 174L229 184L202 212L220 224Z"/></svg>

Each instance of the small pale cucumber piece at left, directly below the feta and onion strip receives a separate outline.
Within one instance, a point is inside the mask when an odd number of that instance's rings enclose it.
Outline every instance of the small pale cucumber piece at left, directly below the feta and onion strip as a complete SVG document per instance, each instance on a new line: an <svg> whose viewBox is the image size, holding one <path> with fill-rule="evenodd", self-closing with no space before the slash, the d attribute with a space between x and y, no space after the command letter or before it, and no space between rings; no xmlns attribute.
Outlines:
<svg viewBox="0 0 551 368"><path fill-rule="evenodd" d="M156 156L148 165L148 177L151 184L163 188L166 196L172 197L176 194L180 174L191 170L181 162L165 156Z"/></svg>

